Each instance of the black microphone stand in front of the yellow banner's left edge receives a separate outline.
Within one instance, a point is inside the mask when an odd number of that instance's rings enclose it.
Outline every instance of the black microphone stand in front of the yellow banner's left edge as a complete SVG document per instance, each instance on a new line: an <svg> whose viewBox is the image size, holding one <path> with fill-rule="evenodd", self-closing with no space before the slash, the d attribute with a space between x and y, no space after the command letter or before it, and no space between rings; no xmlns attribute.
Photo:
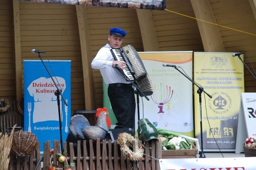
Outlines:
<svg viewBox="0 0 256 170"><path fill-rule="evenodd" d="M199 115L200 115L200 135L201 135L201 151L199 152L199 158L205 158L204 155L204 146L203 146L203 125L202 125L202 99L201 99L201 94L204 91L204 88L200 87L196 82L194 82L190 77L188 77L186 74L184 74L183 72L181 72L177 66L173 66L177 71L179 71L181 74L183 74L183 76L185 76L187 79L189 79L193 85L196 85L198 87L197 93L199 94ZM204 91L205 94L207 94L207 96L209 96L209 98L212 98L211 95L209 95L207 92Z"/></svg>

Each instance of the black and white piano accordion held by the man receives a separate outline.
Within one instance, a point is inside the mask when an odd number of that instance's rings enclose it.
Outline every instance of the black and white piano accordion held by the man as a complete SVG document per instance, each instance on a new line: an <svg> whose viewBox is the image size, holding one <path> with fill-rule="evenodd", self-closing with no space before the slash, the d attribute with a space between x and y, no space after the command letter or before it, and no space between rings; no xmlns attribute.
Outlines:
<svg viewBox="0 0 256 170"><path fill-rule="evenodd" d="M126 62L127 67L123 70L125 78L134 82L145 96L152 95L153 85L135 48L126 45L122 48L112 48L111 53L117 61Z"/></svg>

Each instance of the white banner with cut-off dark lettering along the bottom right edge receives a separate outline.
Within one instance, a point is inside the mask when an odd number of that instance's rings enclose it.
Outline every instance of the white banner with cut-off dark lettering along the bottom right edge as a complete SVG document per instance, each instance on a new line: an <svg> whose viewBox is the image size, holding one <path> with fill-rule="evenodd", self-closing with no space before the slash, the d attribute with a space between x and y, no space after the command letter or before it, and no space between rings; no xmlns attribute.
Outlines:
<svg viewBox="0 0 256 170"><path fill-rule="evenodd" d="M256 157L160 159L160 170L255 170Z"/></svg>

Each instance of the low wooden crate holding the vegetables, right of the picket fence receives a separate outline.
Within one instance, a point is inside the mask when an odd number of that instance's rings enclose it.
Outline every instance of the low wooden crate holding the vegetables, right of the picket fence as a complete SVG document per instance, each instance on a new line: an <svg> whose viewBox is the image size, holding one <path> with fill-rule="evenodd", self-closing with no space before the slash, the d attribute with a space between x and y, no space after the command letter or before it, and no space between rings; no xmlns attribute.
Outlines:
<svg viewBox="0 0 256 170"><path fill-rule="evenodd" d="M162 159L169 158L196 158L198 149L192 145L191 149L162 150Z"/></svg>

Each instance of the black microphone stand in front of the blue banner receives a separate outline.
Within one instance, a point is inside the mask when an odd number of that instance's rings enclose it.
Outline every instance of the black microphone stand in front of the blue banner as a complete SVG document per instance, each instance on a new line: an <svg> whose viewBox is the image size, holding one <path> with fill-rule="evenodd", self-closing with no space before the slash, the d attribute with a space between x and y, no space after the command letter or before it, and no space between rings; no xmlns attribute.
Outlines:
<svg viewBox="0 0 256 170"><path fill-rule="evenodd" d="M43 59L41 58L41 55L40 53L38 52L38 57L41 59L45 69L47 70L49 76L51 77L52 79L52 82L54 83L55 87L57 88L57 90L54 92L54 95L57 96L57 104L58 104L58 117L59 117L59 126L60 126L60 142L61 142L61 152L63 152L63 143L62 143L62 127L61 127L61 109L60 109L60 95L61 95L61 98L63 99L65 105L67 106L67 102L66 100L64 99L63 95L62 95L62 91L58 88L56 82L54 81L54 79L52 78L52 75L50 74L47 66L45 65Z"/></svg>

